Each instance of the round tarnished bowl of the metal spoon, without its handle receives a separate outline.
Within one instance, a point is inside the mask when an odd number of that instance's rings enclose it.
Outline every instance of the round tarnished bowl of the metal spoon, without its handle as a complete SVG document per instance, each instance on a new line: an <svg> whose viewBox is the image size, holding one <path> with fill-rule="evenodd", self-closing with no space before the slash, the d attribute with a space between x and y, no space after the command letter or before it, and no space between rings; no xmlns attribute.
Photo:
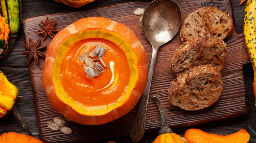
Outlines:
<svg viewBox="0 0 256 143"><path fill-rule="evenodd" d="M144 11L142 30L145 37L155 46L170 41L181 25L181 11L171 0L155 0Z"/></svg>

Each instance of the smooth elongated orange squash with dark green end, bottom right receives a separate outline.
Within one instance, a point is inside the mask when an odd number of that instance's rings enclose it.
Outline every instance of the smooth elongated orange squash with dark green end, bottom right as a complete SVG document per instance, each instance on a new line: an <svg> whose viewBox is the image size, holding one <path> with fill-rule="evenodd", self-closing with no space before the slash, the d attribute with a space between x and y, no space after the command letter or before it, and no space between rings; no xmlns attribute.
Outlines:
<svg viewBox="0 0 256 143"><path fill-rule="evenodd" d="M255 143L256 129L252 126L244 126L240 131L231 135L216 135L200 129L188 129L184 138L189 143Z"/></svg>

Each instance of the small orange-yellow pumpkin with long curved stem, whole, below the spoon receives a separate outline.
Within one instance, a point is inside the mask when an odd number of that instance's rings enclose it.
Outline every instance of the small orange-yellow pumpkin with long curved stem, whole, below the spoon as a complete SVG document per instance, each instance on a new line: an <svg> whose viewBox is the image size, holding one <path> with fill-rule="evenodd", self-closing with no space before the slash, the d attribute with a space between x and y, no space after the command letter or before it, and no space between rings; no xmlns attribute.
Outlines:
<svg viewBox="0 0 256 143"><path fill-rule="evenodd" d="M155 95L153 95L153 97L157 101L157 105L160 111L161 123L160 131L158 132L159 135L156 137L153 143L186 143L184 138L182 138L180 135L173 133L172 130L169 128L163 107L158 97Z"/></svg>

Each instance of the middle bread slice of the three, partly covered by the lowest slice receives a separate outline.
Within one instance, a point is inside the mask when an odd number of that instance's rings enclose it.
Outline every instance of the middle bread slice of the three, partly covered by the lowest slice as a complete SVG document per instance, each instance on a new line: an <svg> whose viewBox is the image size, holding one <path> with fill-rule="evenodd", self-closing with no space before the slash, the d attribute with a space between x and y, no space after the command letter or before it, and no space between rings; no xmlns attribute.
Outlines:
<svg viewBox="0 0 256 143"><path fill-rule="evenodd" d="M171 68L177 75L188 73L189 69L199 65L216 66L222 70L227 53L223 40L215 40L214 37L200 37L184 42L173 53Z"/></svg>

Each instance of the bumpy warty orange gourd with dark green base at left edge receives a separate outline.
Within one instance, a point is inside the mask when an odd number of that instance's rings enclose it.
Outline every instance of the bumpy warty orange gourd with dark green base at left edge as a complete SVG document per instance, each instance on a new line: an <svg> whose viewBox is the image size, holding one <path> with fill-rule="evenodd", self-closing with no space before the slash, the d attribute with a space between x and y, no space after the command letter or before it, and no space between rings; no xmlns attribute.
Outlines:
<svg viewBox="0 0 256 143"><path fill-rule="evenodd" d="M0 15L0 58L5 56L7 52L9 34L9 25L6 23L6 19Z"/></svg>

